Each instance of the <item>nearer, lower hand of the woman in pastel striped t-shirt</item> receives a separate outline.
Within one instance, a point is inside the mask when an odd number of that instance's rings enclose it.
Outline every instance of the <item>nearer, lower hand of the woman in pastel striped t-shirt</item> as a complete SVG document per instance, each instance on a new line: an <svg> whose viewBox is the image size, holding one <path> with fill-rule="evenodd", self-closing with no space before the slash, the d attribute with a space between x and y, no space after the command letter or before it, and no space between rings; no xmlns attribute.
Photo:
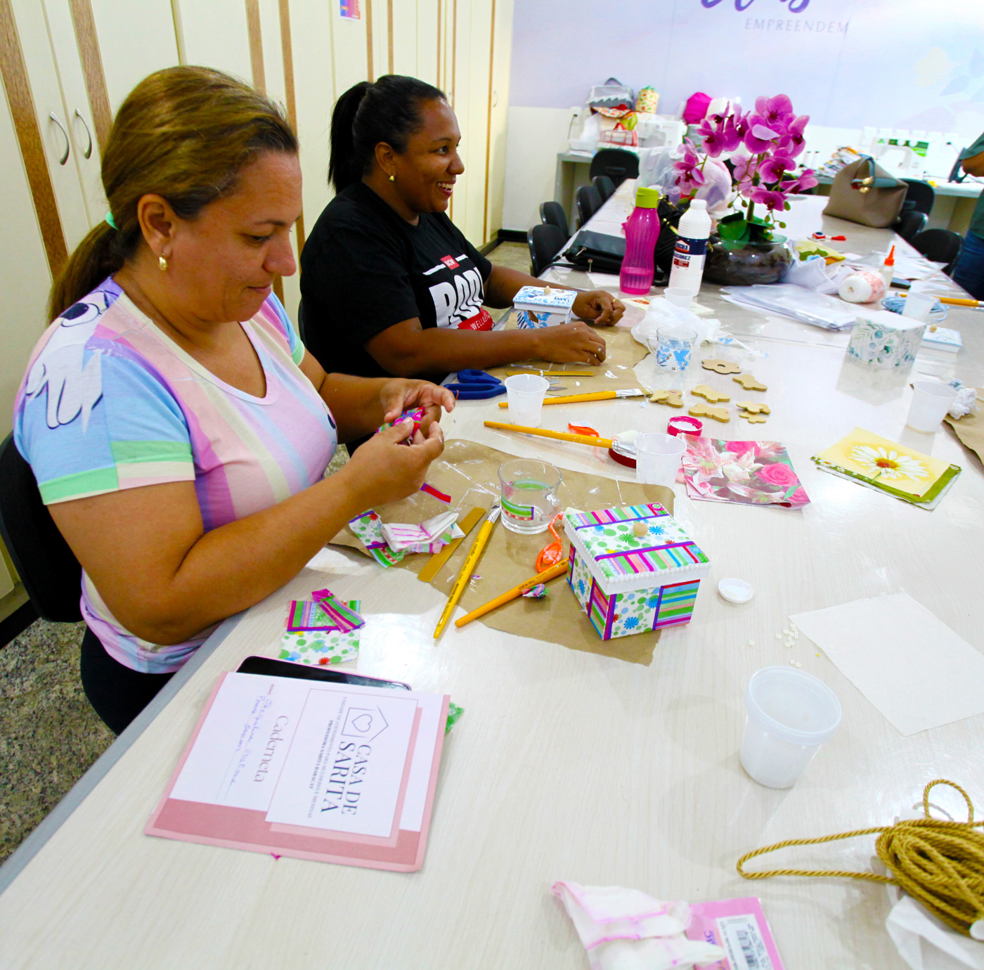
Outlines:
<svg viewBox="0 0 984 970"><path fill-rule="evenodd" d="M399 502L423 485L430 463L444 451L444 435L434 421L426 435L418 430L401 444L411 427L405 421L373 435L337 472L358 494L360 509Z"/></svg>

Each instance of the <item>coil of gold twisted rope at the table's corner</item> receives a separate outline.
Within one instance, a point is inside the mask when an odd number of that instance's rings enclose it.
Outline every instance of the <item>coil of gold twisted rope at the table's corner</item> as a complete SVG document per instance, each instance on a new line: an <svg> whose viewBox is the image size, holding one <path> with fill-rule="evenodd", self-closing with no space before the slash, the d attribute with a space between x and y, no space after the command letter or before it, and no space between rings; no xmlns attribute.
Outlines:
<svg viewBox="0 0 984 970"><path fill-rule="evenodd" d="M944 821L929 813L929 793L936 785L950 785L967 805L966 821ZM925 818L896 821L876 828L856 828L820 838L786 839L761 849L746 852L738 860L737 870L744 879L769 879L772 876L834 876L842 879L866 879L897 885L918 899L931 913L965 937L970 926L984 919L984 833L977 828L984 821L974 821L970 796L955 782L937 778L923 789ZM878 834L875 851L892 877L849 870L773 869L748 873L745 863L790 845L818 845L855 835Z"/></svg>

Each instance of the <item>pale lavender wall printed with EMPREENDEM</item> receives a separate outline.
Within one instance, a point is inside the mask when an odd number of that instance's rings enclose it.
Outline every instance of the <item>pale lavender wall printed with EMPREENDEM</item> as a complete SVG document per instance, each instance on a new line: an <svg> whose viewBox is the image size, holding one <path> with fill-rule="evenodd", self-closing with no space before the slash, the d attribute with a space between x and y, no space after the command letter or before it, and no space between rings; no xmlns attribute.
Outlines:
<svg viewBox="0 0 984 970"><path fill-rule="evenodd" d="M865 127L953 132L955 157L984 131L984 14L981 0L523 0L504 227L539 221L568 108L610 76L653 86L666 114L695 91L749 107L787 93L810 115L821 160Z"/></svg>

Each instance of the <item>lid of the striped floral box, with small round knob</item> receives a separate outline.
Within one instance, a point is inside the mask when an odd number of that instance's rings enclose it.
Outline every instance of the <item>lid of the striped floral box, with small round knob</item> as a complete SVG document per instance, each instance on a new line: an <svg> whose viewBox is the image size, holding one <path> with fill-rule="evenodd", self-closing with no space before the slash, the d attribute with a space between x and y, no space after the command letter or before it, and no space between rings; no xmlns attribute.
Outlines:
<svg viewBox="0 0 984 970"><path fill-rule="evenodd" d="M637 522L646 533L636 535ZM707 556L658 503L564 513L564 530L605 595L702 579Z"/></svg>

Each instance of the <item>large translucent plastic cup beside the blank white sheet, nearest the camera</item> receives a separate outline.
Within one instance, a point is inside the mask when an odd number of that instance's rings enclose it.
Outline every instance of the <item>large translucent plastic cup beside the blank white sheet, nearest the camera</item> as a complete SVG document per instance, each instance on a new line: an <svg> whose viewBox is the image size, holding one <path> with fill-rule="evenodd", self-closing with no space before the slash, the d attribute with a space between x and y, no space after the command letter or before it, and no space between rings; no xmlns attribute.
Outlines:
<svg viewBox="0 0 984 970"><path fill-rule="evenodd" d="M745 692L742 767L767 788L789 788L840 723L840 701L821 680L764 667Z"/></svg>

